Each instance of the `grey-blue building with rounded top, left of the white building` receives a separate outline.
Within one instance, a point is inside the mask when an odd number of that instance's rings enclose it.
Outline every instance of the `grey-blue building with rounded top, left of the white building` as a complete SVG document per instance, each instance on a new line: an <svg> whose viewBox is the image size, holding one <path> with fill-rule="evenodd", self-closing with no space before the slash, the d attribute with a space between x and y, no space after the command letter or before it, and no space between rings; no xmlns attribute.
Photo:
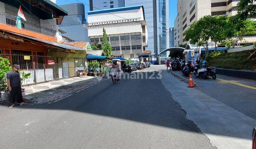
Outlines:
<svg viewBox="0 0 256 149"><path fill-rule="evenodd" d="M62 36L74 41L88 41L88 30L84 28L86 22L84 4L73 3L60 7L68 11L68 16L64 16L59 25L59 28L66 32Z"/></svg>

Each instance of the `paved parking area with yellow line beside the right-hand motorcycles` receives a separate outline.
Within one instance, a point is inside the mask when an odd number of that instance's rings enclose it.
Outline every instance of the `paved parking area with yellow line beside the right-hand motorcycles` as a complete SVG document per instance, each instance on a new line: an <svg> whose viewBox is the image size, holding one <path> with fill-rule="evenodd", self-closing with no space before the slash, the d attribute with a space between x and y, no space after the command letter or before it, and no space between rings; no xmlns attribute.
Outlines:
<svg viewBox="0 0 256 149"><path fill-rule="evenodd" d="M172 72L188 79L181 71ZM218 74L216 80L196 78L193 74L192 78L201 87L198 89L201 92L256 119L256 81Z"/></svg>

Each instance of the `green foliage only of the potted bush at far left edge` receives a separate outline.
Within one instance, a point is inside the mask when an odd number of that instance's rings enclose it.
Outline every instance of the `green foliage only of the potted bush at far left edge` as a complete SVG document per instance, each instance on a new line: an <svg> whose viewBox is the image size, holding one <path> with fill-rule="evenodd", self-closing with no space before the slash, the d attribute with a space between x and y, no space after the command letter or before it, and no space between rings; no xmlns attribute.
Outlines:
<svg viewBox="0 0 256 149"><path fill-rule="evenodd" d="M11 69L9 60L0 57L0 91L7 91L6 73Z"/></svg>

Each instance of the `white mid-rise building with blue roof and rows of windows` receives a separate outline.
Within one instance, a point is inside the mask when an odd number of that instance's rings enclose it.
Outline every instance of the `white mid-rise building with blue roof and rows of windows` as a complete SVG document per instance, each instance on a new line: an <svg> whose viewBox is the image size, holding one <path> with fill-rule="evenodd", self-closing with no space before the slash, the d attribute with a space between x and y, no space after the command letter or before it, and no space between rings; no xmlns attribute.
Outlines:
<svg viewBox="0 0 256 149"><path fill-rule="evenodd" d="M85 28L91 43L101 43L103 28L115 57L133 58L148 53L148 29L143 6L128 6L89 11Z"/></svg>

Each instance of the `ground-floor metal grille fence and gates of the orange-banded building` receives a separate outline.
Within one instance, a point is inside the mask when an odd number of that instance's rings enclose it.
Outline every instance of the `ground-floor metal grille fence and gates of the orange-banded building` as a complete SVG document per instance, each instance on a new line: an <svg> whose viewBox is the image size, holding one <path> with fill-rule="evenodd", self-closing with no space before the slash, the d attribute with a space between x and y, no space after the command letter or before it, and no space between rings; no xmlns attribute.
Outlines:
<svg viewBox="0 0 256 149"><path fill-rule="evenodd" d="M11 50L11 54L0 53L0 56L9 59L11 65L20 65L20 71L31 73L31 78L26 79L23 85L75 77L78 70L87 69L83 58L52 57L41 52L18 50Z"/></svg>

